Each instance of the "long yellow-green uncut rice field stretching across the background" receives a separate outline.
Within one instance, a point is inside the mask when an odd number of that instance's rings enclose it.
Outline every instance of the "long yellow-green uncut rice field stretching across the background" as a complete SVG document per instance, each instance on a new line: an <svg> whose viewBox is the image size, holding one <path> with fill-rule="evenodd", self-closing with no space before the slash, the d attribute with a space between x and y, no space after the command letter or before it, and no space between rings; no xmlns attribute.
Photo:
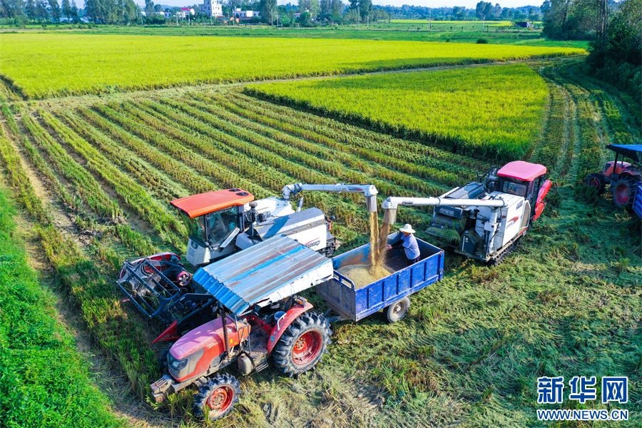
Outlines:
<svg viewBox="0 0 642 428"><path fill-rule="evenodd" d="M581 54L412 41L2 34L1 76L29 98Z"/></svg>

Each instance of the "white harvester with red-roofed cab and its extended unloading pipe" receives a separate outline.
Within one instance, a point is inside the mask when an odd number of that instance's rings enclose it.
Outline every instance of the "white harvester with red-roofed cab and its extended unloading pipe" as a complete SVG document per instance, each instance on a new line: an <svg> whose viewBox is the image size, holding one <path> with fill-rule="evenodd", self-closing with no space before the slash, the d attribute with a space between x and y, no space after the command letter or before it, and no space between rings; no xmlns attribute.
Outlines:
<svg viewBox="0 0 642 428"><path fill-rule="evenodd" d="M392 224L398 205L432 205L427 229L455 253L496 265L539 218L551 188L544 165L514 161L491 168L483 182L454 188L439 198L387 198L384 223Z"/></svg>

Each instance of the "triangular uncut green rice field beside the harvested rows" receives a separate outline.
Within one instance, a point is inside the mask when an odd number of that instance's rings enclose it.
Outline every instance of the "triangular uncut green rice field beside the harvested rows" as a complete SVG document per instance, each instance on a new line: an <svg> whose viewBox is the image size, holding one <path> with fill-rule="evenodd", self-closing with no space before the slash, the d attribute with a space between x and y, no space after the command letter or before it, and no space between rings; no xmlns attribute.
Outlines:
<svg viewBox="0 0 642 428"><path fill-rule="evenodd" d="M533 148L547 97L544 79L522 64L260 83L248 91L503 160Z"/></svg>

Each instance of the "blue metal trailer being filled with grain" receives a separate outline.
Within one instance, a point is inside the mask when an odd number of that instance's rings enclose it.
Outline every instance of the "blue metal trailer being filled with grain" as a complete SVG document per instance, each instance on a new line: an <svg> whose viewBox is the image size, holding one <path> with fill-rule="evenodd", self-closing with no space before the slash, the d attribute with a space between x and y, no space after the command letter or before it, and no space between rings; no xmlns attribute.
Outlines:
<svg viewBox="0 0 642 428"><path fill-rule="evenodd" d="M397 237L397 233L388 235L388 243ZM332 258L332 279L317 285L317 295L323 297L330 308L325 313L327 320L359 321L386 308L390 322L402 319L410 305L409 295L444 276L444 250L423 240L417 239L417 243L421 252L419 262L407 266L406 258L399 250L388 250L385 267L392 273L361 288L337 270L350 265L367 265L370 244ZM332 312L338 315L330 316Z"/></svg>

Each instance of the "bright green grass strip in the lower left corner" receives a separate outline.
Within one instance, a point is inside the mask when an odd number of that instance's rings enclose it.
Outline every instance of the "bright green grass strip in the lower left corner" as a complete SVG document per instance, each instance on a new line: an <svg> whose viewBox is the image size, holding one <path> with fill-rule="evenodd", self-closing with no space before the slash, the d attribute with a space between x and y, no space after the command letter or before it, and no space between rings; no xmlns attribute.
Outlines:
<svg viewBox="0 0 642 428"><path fill-rule="evenodd" d="M13 167L19 160L0 152ZM29 185L26 175L12 177ZM18 182L17 180L21 180ZM16 229L13 195L0 186L0 409L3 427L121 427L91 382L88 362L58 322L56 300L39 283ZM32 199L35 206L36 198ZM38 226L40 228L40 226Z"/></svg>

